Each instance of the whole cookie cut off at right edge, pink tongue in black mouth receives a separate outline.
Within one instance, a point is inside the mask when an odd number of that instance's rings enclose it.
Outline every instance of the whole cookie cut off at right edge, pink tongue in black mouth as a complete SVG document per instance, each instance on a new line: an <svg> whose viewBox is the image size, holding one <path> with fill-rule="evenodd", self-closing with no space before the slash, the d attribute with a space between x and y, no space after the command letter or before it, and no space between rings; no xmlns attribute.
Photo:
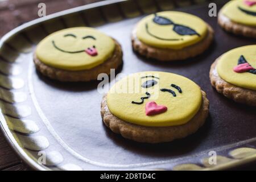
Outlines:
<svg viewBox="0 0 256 182"><path fill-rule="evenodd" d="M256 45L232 49L210 69L214 88L236 102L256 106Z"/></svg>

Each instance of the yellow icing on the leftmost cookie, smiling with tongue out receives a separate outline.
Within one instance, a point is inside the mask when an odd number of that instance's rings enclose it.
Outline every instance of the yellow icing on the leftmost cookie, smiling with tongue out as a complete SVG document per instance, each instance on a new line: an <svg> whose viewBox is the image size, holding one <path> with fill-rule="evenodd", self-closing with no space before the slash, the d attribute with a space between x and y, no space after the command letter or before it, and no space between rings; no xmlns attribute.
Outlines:
<svg viewBox="0 0 256 182"><path fill-rule="evenodd" d="M115 42L89 27L67 28L44 38L36 48L42 63L67 71L92 69L112 56Z"/></svg>

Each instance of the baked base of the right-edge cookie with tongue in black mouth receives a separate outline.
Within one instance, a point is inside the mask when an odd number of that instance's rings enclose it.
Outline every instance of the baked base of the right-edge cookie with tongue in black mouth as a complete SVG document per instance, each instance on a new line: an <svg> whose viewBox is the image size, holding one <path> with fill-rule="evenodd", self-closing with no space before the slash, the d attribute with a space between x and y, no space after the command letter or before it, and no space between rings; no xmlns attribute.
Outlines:
<svg viewBox="0 0 256 182"><path fill-rule="evenodd" d="M256 106L256 91L230 84L218 75L216 67L219 59L220 57L216 61L214 61L214 63L210 67L209 76L212 86L216 88L217 92L236 102L247 104L250 106Z"/></svg>

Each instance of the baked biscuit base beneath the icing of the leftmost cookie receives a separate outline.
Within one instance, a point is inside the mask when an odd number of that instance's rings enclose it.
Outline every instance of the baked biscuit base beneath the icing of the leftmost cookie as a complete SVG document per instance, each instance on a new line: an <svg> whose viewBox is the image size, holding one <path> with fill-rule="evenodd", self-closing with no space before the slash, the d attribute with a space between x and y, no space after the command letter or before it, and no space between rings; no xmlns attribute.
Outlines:
<svg viewBox="0 0 256 182"><path fill-rule="evenodd" d="M122 64L122 48L121 45L115 41L115 50L108 60L96 67L82 71L67 71L59 68L50 67L40 61L34 53L34 63L36 69L44 76L52 78L53 80L77 82L77 81L91 81L97 80L100 73L110 74L110 69L117 69Z"/></svg>

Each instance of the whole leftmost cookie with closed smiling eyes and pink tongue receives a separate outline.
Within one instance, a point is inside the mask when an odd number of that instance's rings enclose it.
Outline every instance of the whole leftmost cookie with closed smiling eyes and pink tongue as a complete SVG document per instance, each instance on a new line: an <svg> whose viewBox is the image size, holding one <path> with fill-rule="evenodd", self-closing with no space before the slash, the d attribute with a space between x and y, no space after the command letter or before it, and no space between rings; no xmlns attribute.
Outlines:
<svg viewBox="0 0 256 182"><path fill-rule="evenodd" d="M97 80L122 63L116 40L89 27L67 28L44 38L34 54L36 68L55 80Z"/></svg>

